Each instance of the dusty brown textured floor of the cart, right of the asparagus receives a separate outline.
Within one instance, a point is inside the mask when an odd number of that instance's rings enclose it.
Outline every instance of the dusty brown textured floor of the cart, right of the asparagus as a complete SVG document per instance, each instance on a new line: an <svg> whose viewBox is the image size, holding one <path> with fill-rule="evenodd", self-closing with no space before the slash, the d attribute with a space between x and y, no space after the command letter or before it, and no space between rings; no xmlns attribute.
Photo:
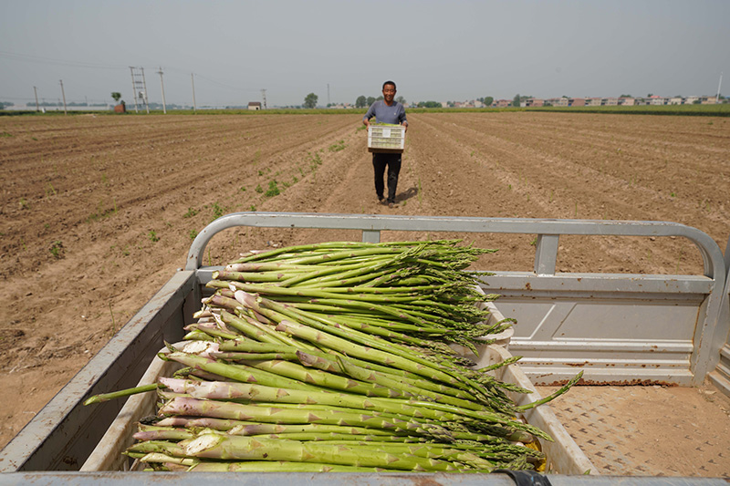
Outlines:
<svg viewBox="0 0 730 486"><path fill-rule="evenodd" d="M730 398L712 385L573 387L550 408L601 475L730 479Z"/></svg>

